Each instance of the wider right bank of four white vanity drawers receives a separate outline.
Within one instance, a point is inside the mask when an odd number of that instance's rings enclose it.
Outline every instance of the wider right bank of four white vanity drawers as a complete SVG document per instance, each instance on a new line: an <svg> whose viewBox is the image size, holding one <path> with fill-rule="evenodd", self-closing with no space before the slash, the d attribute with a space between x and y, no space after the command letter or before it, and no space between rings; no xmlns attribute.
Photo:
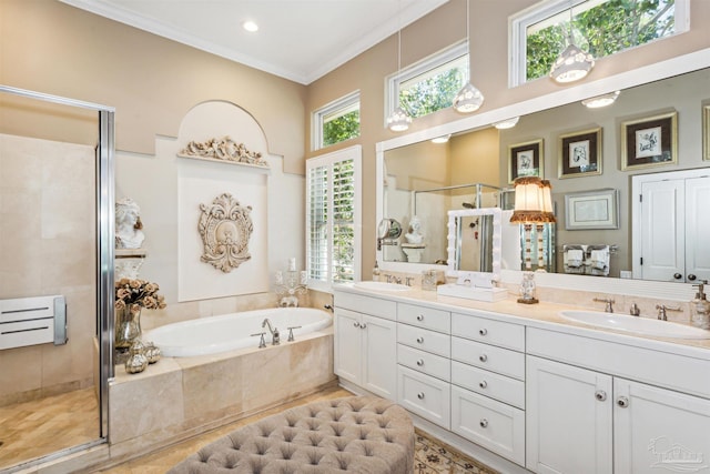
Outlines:
<svg viewBox="0 0 710 474"><path fill-rule="evenodd" d="M525 464L525 326L452 314L452 431Z"/></svg>

